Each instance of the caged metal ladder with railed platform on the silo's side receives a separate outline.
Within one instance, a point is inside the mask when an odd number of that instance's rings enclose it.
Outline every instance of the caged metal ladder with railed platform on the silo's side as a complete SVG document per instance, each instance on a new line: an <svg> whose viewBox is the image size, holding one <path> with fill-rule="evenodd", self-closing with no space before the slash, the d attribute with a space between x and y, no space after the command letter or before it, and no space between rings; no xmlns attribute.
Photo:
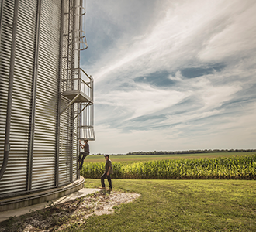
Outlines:
<svg viewBox="0 0 256 232"><path fill-rule="evenodd" d="M66 56L64 63L61 94L69 103L61 109L61 113L78 103L74 111L74 119L78 119L78 139L95 140L94 108L93 108L93 78L79 67L80 51L88 48L85 37L85 0L69 0L67 12L64 12L67 23Z"/></svg>

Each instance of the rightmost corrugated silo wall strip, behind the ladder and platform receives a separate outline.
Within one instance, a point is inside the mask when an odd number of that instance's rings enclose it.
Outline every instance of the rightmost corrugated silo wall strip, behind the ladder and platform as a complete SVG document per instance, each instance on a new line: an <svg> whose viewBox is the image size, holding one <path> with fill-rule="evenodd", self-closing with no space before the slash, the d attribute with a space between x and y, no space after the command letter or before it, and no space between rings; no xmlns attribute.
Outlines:
<svg viewBox="0 0 256 232"><path fill-rule="evenodd" d="M69 3L69 4L67 4ZM77 75L77 71L74 71L74 67L78 67L79 53L74 51L74 10L78 8L74 7L78 5L77 0L66 1L64 6L64 39L63 39L63 75L62 80L69 80L68 86L67 81L61 81L61 90L71 90L74 88L75 83L73 82L74 75ZM77 15L76 15L77 16ZM75 29L77 31L77 29ZM78 104L73 104L67 107L71 101L67 100L66 97L62 96L61 109L61 128L60 128L60 173L59 180L60 184L67 181L74 181L78 179L78 131L77 131L77 120L74 118L75 111L78 111ZM64 131L67 131L64 135ZM68 171L67 171L68 170Z"/></svg>

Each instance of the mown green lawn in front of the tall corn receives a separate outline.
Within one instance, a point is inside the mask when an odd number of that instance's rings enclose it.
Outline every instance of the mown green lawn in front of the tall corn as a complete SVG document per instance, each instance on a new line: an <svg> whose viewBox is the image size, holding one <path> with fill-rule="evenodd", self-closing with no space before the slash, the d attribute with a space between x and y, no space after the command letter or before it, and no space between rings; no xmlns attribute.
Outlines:
<svg viewBox="0 0 256 232"><path fill-rule="evenodd" d="M100 186L85 179L85 187ZM71 231L256 231L256 182L114 179L114 190L140 193L111 215Z"/></svg>

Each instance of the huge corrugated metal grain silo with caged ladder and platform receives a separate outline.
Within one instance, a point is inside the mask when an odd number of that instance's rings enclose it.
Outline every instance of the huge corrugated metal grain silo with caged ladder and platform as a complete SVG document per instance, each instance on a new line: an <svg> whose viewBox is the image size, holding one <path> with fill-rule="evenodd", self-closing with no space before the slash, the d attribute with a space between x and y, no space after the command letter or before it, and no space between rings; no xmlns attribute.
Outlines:
<svg viewBox="0 0 256 232"><path fill-rule="evenodd" d="M93 78L80 68L85 0L0 0L0 211L80 189L94 140Z"/></svg>

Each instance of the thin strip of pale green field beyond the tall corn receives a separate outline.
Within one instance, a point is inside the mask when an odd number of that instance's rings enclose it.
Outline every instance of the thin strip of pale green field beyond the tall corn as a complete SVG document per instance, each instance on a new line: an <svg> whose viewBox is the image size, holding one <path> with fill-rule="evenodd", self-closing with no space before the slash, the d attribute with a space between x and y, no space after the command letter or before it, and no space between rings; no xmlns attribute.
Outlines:
<svg viewBox="0 0 256 232"><path fill-rule="evenodd" d="M149 160L216 158L252 154L255 154L255 152L216 152L180 155L110 155L110 159L112 162L146 162ZM103 155L88 155L85 159L85 162L102 162L104 160L105 159Z"/></svg>

